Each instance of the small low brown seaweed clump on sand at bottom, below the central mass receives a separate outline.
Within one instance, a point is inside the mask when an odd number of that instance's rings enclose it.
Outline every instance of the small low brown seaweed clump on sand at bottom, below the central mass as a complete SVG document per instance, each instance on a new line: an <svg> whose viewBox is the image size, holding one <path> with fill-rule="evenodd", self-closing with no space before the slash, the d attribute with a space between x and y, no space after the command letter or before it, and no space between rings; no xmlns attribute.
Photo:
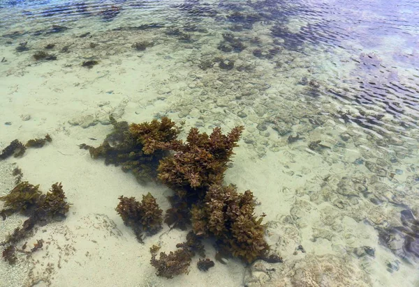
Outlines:
<svg viewBox="0 0 419 287"><path fill-rule="evenodd" d="M159 259L156 259L156 254L152 254L150 263L156 268L157 276L170 279L179 274L187 274L189 272L191 260L191 252L180 248L175 252L170 251L169 254L161 252Z"/></svg>

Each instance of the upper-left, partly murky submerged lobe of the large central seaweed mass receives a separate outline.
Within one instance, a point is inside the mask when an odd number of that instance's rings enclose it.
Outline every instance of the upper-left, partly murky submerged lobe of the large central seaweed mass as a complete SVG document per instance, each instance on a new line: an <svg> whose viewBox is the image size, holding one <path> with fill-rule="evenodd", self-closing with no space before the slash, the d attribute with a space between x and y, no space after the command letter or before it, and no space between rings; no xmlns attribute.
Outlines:
<svg viewBox="0 0 419 287"><path fill-rule="evenodd" d="M93 158L104 158L105 164L122 166L122 171L131 171L140 183L157 178L159 160L168 154L166 147L175 141L177 130L168 118L152 123L131 124L117 122L110 116L114 130L108 134L101 146L94 148L81 144L80 148L89 149Z"/></svg>

